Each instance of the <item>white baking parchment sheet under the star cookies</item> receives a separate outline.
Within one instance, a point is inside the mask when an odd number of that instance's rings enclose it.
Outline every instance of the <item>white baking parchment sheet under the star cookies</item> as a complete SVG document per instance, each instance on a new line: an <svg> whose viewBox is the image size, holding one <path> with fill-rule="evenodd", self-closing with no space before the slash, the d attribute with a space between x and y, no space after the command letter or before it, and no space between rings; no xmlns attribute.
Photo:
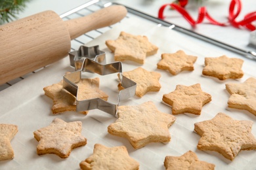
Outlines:
<svg viewBox="0 0 256 170"><path fill-rule="evenodd" d="M14 159L0 161L0 169L79 169L79 162L93 154L93 147L96 143L109 147L126 146L129 155L139 161L140 169L165 169L163 166L165 156L181 156L188 150L196 152L199 160L214 163L215 169L256 169L255 150L242 151L233 161L229 161L217 152L198 150L196 145L200 136L194 132L194 123L209 120L218 112L224 112L236 120L252 120L254 122L252 133L256 137L256 117L245 110L228 108L227 101L230 94L225 90L226 83L240 83L251 76L256 77L256 62L210 44L203 44L201 41L191 39L167 27L160 27L133 15L89 42L87 46L99 45L100 50L106 52L107 62L113 62L113 54L106 48L105 41L117 39L120 31L134 35L146 35L150 42L159 47L158 53L154 56L148 56L144 65L124 61L123 71L130 71L137 67L143 67L148 71L157 71L161 73L160 84L162 87L160 92L149 92L142 98L134 96L121 101L119 105L140 105L146 101L154 101L161 112L171 114L171 107L161 101L163 94L173 92L177 84L191 86L200 83L203 92L210 93L212 96L212 101L203 106L201 115L177 115L176 122L169 127L171 133L169 143L150 143L144 148L135 150L127 139L108 133L107 127L117 119L110 114L97 109L90 110L87 116L77 112L52 114L53 101L44 95L43 87L59 82L66 71L74 71L70 67L69 58L66 57L0 92L0 123L18 126L18 133L11 141L15 154ZM173 53L177 50L184 50L188 55L198 56L194 64L194 71L183 71L179 75L173 76L168 71L157 69L156 64L160 61L161 54ZM204 58L222 55L244 59L242 69L245 74L243 78L221 81L202 75ZM83 76L95 75L83 74ZM110 78L112 78L111 81ZM114 101L118 94L117 75L110 75L110 78L100 76L100 87L110 95L110 101ZM36 153L38 142L33 138L33 131L49 126L54 118L62 118L66 122L79 120L83 123L81 134L87 138L87 144L75 148L69 158L62 159L55 154L38 156Z"/></svg>

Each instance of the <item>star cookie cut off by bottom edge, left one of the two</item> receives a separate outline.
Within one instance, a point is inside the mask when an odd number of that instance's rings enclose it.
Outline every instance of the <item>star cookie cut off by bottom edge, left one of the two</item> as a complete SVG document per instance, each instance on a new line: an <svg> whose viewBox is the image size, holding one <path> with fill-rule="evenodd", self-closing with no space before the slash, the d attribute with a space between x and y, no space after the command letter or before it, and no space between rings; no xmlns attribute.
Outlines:
<svg viewBox="0 0 256 170"><path fill-rule="evenodd" d="M112 148L95 144L93 155L80 163L81 169L139 169L139 163L131 158L125 146Z"/></svg>

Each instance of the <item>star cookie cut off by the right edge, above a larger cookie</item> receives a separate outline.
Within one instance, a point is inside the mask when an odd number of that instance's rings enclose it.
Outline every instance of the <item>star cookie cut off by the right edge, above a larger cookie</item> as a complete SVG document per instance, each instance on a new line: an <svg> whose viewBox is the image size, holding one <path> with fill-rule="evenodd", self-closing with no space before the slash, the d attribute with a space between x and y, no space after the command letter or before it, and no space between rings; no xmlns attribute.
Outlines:
<svg viewBox="0 0 256 170"><path fill-rule="evenodd" d="M228 107L248 110L256 116L256 79L251 77L242 84L226 84L226 90L231 94Z"/></svg>

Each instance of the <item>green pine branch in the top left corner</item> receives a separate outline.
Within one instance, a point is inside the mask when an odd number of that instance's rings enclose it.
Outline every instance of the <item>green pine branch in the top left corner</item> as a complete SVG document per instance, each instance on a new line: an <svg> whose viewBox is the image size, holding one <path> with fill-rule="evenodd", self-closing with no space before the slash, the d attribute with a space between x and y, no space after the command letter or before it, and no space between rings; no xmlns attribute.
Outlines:
<svg viewBox="0 0 256 170"><path fill-rule="evenodd" d="M0 25L11 22L30 0L0 0Z"/></svg>

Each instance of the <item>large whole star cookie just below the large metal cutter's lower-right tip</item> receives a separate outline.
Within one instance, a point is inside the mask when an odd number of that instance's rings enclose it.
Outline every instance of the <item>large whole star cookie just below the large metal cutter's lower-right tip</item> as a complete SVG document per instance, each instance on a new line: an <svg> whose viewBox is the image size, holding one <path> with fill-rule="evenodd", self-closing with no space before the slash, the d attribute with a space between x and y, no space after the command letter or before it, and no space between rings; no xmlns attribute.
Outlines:
<svg viewBox="0 0 256 170"><path fill-rule="evenodd" d="M119 118L108 126L108 132L127 138L134 148L171 141L168 128L176 118L160 112L152 101L137 106L119 106L117 110Z"/></svg>

